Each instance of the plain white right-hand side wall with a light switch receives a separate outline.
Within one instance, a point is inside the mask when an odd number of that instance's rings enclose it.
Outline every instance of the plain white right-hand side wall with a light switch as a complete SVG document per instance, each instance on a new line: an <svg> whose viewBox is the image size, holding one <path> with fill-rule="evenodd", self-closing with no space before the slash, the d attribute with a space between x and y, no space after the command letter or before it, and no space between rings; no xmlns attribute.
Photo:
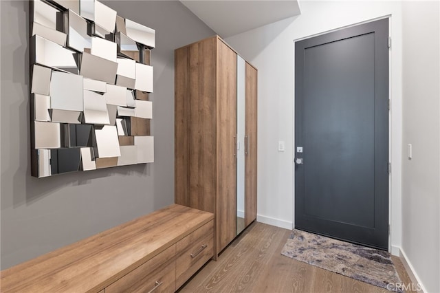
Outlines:
<svg viewBox="0 0 440 293"><path fill-rule="evenodd" d="M440 3L402 4L402 252L440 292ZM412 160L406 147L412 144Z"/></svg>

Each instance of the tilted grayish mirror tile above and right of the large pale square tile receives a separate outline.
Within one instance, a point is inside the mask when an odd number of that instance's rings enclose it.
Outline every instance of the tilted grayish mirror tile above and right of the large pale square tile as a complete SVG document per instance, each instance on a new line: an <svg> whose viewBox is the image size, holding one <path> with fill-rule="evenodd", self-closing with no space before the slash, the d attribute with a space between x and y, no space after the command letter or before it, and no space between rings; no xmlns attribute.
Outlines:
<svg viewBox="0 0 440 293"><path fill-rule="evenodd" d="M84 77L101 80L106 83L114 84L118 63L109 61L92 54L83 53L81 58L80 74Z"/></svg>

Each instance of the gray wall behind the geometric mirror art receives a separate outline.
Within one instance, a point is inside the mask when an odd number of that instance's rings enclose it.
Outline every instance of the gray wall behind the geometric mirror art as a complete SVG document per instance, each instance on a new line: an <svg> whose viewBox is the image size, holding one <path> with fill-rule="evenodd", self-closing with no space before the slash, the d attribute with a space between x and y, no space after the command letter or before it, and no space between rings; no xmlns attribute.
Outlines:
<svg viewBox="0 0 440 293"><path fill-rule="evenodd" d="M28 2L0 1L1 269L174 201L174 49L214 34L179 1L104 1L156 30L155 162L30 176Z"/></svg>

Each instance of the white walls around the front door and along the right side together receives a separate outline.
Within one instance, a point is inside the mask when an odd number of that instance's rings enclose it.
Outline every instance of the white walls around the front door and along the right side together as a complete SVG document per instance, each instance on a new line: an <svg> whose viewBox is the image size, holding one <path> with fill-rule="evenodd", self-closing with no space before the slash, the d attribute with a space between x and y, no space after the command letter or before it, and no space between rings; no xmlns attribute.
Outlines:
<svg viewBox="0 0 440 293"><path fill-rule="evenodd" d="M439 1L300 6L298 17L226 39L259 69L257 219L285 228L294 221L294 40L390 15L391 252L404 256L415 287L420 282L425 292L440 292ZM276 151L278 140L285 140L285 153Z"/></svg>

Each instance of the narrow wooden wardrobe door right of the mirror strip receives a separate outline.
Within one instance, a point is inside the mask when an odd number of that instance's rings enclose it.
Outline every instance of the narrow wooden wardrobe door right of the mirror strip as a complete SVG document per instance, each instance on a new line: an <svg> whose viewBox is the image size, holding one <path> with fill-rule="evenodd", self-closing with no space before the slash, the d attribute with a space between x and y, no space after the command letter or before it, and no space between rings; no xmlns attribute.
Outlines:
<svg viewBox="0 0 440 293"><path fill-rule="evenodd" d="M245 226L256 219L256 153L257 153L257 71L249 63L245 65Z"/></svg>

